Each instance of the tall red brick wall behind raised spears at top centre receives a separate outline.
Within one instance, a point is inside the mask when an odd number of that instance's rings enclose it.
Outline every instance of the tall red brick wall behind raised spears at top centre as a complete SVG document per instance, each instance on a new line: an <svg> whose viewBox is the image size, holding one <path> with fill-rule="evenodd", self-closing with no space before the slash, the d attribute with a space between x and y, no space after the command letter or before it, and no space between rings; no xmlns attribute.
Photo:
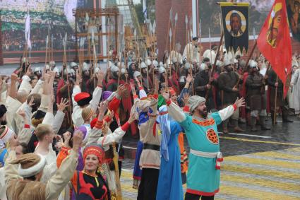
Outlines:
<svg viewBox="0 0 300 200"><path fill-rule="evenodd" d="M186 23L185 17L188 15L188 20L192 16L192 1L191 0L156 0L156 24L157 24L157 48L159 49L158 57L162 59L164 50L166 50L166 42L169 41L169 11L172 7L173 20L175 13L178 13L178 21L176 24L175 43L181 44L181 50L184 50L186 45ZM174 33L173 33L174 34ZM169 42L167 49L169 49Z"/></svg>

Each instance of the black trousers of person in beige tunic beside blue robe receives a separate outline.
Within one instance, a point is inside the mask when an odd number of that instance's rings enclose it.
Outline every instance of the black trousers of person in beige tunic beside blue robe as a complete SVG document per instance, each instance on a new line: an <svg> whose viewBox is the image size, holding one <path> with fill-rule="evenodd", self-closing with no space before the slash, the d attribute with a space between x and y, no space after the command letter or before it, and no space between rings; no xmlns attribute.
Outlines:
<svg viewBox="0 0 300 200"><path fill-rule="evenodd" d="M155 200L157 192L158 175L160 170L143 168L142 179L138 187L138 200Z"/></svg>

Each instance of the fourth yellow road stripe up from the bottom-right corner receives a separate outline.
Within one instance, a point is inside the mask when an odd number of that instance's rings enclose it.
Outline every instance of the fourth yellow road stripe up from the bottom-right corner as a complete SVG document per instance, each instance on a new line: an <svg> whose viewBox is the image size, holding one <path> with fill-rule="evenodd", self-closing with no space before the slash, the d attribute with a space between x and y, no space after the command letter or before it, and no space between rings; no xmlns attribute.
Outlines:
<svg viewBox="0 0 300 200"><path fill-rule="evenodd" d="M291 163L286 162L282 160L265 160L260 158L248 158L243 155L236 155L236 156L229 156L224 158L224 162L226 163L226 160L229 161L236 161L239 163L250 163L250 164L257 164L257 165L271 165L271 166L277 166L277 167L286 167L291 169L299 169L300 165L298 163ZM224 164L225 164L224 163Z"/></svg>

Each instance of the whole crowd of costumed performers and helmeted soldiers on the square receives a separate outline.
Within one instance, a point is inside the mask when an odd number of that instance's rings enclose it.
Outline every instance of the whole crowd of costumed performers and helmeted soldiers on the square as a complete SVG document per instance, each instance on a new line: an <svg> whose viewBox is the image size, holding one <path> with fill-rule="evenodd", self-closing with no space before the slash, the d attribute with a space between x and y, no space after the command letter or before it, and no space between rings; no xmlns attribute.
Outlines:
<svg viewBox="0 0 300 200"><path fill-rule="evenodd" d="M138 199L214 199L223 160L217 126L224 134L229 125L244 131L239 122L268 130L266 117L276 120L277 111L282 122L292 121L268 61L245 66L222 52L212 67L215 48L199 63L194 45L160 63L155 54L126 64L114 59L106 71L74 62L61 71L54 61L40 70L23 59L1 76L0 199L122 199L126 133L139 138ZM299 95L299 69L291 87Z"/></svg>

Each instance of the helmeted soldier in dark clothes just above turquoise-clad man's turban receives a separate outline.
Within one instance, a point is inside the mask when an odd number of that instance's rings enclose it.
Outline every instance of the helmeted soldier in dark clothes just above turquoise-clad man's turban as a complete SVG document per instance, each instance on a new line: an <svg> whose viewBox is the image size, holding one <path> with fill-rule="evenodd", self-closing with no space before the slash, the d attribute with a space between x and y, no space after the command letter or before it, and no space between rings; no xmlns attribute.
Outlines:
<svg viewBox="0 0 300 200"><path fill-rule="evenodd" d="M210 77L210 69L211 65L204 64L204 69L197 73L195 81L194 81L194 89L196 91L196 95L201 96L203 98L206 97L206 93L208 93L208 100L206 105L208 107L208 112L210 110L215 109L215 102L212 98L212 85L216 85L217 81L214 81L214 78Z"/></svg>

